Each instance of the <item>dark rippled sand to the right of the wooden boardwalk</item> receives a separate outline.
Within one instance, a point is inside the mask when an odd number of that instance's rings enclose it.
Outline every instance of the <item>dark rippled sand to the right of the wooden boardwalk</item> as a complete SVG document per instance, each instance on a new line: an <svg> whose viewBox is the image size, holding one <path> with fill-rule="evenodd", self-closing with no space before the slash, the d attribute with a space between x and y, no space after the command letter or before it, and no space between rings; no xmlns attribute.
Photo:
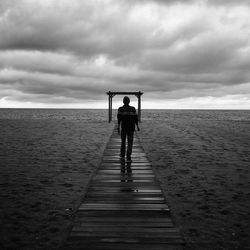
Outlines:
<svg viewBox="0 0 250 250"><path fill-rule="evenodd" d="M250 122L179 118L141 128L186 249L250 249Z"/></svg>

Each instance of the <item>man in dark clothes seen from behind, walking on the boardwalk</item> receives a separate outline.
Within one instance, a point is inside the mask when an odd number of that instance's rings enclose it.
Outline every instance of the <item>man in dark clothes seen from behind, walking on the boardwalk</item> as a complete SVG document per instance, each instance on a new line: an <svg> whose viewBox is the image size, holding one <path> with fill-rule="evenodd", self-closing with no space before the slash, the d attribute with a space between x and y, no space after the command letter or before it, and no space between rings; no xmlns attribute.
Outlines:
<svg viewBox="0 0 250 250"><path fill-rule="evenodd" d="M132 106L129 106L130 99L127 96L123 98L123 103L124 105L118 109L117 113L118 134L120 134L120 125L121 125L122 142L121 142L120 157L121 160L125 160L126 138L128 138L127 161L131 162L135 125L137 126L138 131L140 131L140 128L138 126L138 116L136 114L136 109Z"/></svg>

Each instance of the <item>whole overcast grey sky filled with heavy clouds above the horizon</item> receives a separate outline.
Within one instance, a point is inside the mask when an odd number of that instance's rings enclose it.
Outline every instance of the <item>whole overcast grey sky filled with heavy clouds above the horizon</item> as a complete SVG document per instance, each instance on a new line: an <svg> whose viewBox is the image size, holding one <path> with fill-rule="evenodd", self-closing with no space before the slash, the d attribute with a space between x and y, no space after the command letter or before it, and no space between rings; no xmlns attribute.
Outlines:
<svg viewBox="0 0 250 250"><path fill-rule="evenodd" d="M249 69L248 0L0 0L0 107L250 109Z"/></svg>

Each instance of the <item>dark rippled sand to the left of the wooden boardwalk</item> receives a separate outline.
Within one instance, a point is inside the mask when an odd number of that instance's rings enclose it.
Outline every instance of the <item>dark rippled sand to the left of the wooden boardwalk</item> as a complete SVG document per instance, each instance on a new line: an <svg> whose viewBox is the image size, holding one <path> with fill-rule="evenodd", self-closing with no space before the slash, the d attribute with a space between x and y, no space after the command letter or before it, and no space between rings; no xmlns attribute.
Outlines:
<svg viewBox="0 0 250 250"><path fill-rule="evenodd" d="M2 119L0 127L0 249L57 249L113 124Z"/></svg>

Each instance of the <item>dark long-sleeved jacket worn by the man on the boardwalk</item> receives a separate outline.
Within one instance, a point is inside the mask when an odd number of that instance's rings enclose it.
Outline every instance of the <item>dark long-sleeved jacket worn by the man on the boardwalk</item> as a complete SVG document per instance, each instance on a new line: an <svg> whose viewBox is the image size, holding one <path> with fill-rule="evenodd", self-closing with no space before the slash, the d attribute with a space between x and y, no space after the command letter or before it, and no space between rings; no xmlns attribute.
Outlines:
<svg viewBox="0 0 250 250"><path fill-rule="evenodd" d="M118 126L120 126L121 123L123 131L135 131L135 125L138 125L138 115L136 113L136 109L129 105L123 105L118 109L117 119Z"/></svg>

